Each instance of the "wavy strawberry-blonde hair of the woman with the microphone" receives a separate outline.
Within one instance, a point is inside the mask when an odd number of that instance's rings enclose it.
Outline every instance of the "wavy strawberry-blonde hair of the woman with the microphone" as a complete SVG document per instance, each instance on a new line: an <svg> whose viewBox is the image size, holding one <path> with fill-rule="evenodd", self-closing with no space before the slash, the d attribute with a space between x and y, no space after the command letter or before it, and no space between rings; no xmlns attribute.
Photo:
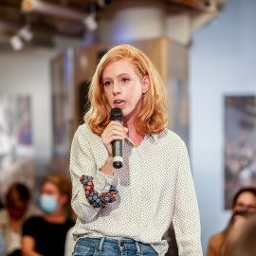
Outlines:
<svg viewBox="0 0 256 256"><path fill-rule="evenodd" d="M121 45L111 48L98 64L91 80L88 93L91 106L84 116L84 121L93 133L101 136L109 123L109 105L102 84L102 75L107 65L120 59L128 60L135 67L138 78L141 80L149 76L151 86L142 96L142 105L136 117L135 126L140 135L159 134L167 125L167 98L165 86L151 60L134 46Z"/></svg>

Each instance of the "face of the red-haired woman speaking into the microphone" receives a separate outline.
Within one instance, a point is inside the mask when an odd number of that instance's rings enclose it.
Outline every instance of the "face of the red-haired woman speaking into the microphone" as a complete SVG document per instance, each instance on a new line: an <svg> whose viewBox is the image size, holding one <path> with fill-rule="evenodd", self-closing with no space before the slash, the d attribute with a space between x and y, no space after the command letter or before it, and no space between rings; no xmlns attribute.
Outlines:
<svg viewBox="0 0 256 256"><path fill-rule="evenodd" d="M149 77L138 78L133 64L121 59L106 66L102 74L104 93L111 108L122 109L124 119L137 116L142 94L149 90Z"/></svg>

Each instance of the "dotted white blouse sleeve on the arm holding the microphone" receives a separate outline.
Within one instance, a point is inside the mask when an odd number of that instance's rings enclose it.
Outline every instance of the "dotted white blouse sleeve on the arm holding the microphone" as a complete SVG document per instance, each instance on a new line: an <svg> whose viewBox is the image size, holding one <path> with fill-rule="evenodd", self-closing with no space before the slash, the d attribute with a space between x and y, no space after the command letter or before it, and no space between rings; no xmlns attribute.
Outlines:
<svg viewBox="0 0 256 256"><path fill-rule="evenodd" d="M82 175L93 177L94 189L97 192L108 192L114 176L101 173L93 155L88 129L81 125L72 141L70 152L70 175L72 180L71 205L78 217L83 222L91 222L101 208L94 208L86 199L81 182ZM103 145L102 145L103 146Z"/></svg>

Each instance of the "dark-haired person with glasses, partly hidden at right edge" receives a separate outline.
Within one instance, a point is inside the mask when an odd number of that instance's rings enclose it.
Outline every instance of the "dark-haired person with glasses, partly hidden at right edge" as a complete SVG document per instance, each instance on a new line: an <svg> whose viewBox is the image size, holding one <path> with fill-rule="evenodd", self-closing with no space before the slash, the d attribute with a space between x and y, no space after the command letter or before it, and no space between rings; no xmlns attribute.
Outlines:
<svg viewBox="0 0 256 256"><path fill-rule="evenodd" d="M229 225L224 231L210 237L207 255L226 256L227 237L230 230L232 227L236 227L237 220L243 219L245 213L255 210L256 190L254 188L245 188L237 192L232 202L232 216L229 220Z"/></svg>

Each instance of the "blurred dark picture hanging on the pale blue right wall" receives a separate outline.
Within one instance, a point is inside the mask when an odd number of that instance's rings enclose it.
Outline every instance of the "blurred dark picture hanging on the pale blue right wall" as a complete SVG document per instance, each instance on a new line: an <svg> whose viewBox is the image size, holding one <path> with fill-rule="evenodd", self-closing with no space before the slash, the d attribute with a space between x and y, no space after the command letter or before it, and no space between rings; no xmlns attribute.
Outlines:
<svg viewBox="0 0 256 256"><path fill-rule="evenodd" d="M244 187L256 188L256 95L225 97L225 209Z"/></svg>

